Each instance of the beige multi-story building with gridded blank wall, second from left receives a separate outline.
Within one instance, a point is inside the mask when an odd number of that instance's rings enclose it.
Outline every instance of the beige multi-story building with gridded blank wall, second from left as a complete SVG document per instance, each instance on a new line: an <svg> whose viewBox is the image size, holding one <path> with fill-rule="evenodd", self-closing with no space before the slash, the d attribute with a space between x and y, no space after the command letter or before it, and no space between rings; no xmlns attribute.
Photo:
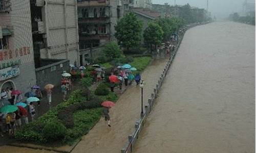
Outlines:
<svg viewBox="0 0 256 153"><path fill-rule="evenodd" d="M40 59L79 63L76 0L30 0L36 68Z"/></svg>

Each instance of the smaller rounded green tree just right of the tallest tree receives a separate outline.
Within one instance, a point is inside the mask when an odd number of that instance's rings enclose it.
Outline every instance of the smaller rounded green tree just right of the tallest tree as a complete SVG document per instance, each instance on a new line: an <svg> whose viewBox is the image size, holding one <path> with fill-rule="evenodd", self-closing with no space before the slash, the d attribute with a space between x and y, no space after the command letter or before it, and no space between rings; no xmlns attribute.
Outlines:
<svg viewBox="0 0 256 153"><path fill-rule="evenodd" d="M162 28L155 22L149 22L147 24L147 28L144 30L144 41L146 44L150 45L159 45L163 39L163 30Z"/></svg>

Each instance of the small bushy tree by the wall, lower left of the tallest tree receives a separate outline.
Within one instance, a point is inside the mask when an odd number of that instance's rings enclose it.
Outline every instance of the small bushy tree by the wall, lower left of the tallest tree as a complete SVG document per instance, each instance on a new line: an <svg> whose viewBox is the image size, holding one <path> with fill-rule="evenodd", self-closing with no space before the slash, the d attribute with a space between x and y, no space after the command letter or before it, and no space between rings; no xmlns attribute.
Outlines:
<svg viewBox="0 0 256 153"><path fill-rule="evenodd" d="M103 48L103 53L106 57L110 57L111 60L115 58L121 57L121 49L115 41L111 41L110 43L106 44Z"/></svg>

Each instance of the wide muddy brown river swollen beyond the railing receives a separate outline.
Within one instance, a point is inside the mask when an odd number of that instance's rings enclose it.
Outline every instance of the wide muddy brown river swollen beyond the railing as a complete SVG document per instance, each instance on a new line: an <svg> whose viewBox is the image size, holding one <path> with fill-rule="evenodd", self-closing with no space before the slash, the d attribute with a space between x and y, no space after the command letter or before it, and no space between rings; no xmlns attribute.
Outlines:
<svg viewBox="0 0 256 153"><path fill-rule="evenodd" d="M133 152L255 152L255 26L189 29Z"/></svg>

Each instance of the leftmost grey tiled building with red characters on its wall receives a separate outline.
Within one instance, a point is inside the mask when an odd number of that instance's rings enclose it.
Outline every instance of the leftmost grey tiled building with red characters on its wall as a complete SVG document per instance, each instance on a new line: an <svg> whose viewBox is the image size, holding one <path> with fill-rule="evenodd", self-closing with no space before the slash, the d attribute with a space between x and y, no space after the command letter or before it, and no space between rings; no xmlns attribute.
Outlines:
<svg viewBox="0 0 256 153"><path fill-rule="evenodd" d="M35 85L29 0L0 0L0 89Z"/></svg>

